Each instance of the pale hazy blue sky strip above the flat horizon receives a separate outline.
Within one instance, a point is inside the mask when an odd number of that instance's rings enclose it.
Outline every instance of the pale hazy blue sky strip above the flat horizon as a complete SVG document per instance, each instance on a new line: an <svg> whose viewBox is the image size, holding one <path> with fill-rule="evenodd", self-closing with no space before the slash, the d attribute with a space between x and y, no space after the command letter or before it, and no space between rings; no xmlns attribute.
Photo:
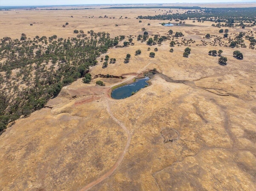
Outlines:
<svg viewBox="0 0 256 191"><path fill-rule="evenodd" d="M217 3L256 2L256 0L0 0L0 6L138 4L138 3Z"/></svg>

